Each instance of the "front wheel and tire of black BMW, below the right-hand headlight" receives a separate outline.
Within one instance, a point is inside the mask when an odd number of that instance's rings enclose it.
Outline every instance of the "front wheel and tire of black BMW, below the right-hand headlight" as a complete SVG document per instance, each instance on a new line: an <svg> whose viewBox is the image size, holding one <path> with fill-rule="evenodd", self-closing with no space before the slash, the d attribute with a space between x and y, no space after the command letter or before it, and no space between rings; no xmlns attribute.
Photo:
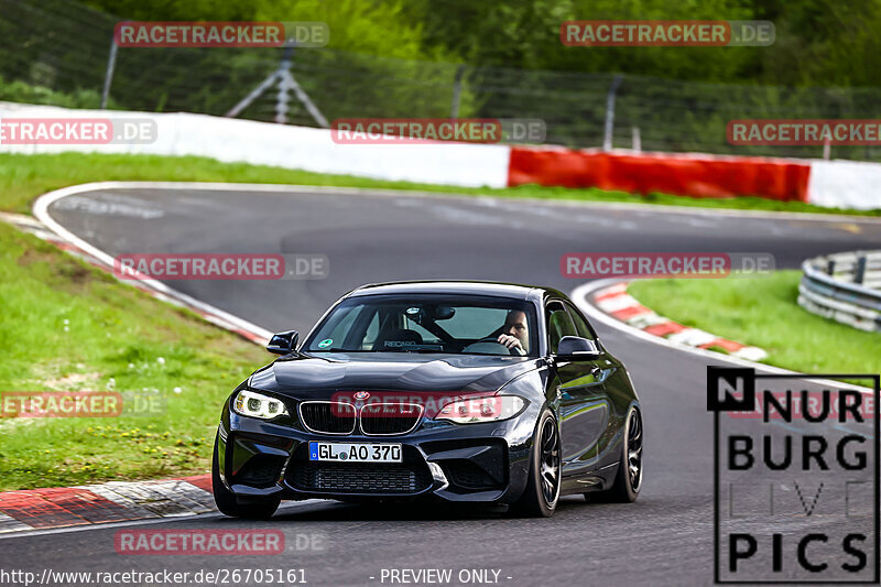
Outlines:
<svg viewBox="0 0 881 587"><path fill-rule="evenodd" d="M561 472L559 430L553 412L545 409L535 426L526 489L511 506L511 512L530 518L554 515L559 501Z"/></svg>

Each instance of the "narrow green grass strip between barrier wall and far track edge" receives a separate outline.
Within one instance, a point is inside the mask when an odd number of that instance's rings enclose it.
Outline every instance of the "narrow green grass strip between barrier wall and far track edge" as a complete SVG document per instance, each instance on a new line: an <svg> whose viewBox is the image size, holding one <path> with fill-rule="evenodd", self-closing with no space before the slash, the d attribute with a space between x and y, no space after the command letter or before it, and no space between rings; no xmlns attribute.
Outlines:
<svg viewBox="0 0 881 587"><path fill-rule="evenodd" d="M205 157L170 157L156 155L102 155L59 153L53 155L0 154L0 209L30 211L37 196L68 185L88 182L129 180L167 182L236 182L265 184L306 184L496 196L512 198L565 199L578 202L622 202L631 204L663 204L700 208L732 208L752 210L783 210L824 214L856 214L881 216L878 210L838 210L820 208L800 202L776 202L758 197L692 198L653 194L639 196L623 192L596 188L568 189L524 185L512 188L463 188L423 185L409 182L384 182L349 175L327 175L297 170L284 170L244 163L221 163Z"/></svg>

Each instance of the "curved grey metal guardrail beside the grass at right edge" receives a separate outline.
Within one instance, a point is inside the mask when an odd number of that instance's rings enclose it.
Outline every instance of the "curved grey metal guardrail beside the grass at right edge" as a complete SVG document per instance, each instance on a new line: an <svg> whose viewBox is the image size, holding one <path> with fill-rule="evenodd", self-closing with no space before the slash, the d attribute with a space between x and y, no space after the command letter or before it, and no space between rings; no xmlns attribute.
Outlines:
<svg viewBox="0 0 881 587"><path fill-rule="evenodd" d="M802 272L800 306L861 330L881 331L881 251L808 259Z"/></svg>

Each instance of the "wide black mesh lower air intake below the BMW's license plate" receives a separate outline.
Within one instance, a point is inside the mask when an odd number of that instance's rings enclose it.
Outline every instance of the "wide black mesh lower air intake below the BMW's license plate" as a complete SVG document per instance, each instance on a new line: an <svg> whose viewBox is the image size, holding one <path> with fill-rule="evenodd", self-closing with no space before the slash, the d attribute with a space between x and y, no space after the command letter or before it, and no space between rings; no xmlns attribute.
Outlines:
<svg viewBox="0 0 881 587"><path fill-rule="evenodd" d="M416 493L432 485L427 467L371 464L302 463L289 472L303 491L331 493Z"/></svg>

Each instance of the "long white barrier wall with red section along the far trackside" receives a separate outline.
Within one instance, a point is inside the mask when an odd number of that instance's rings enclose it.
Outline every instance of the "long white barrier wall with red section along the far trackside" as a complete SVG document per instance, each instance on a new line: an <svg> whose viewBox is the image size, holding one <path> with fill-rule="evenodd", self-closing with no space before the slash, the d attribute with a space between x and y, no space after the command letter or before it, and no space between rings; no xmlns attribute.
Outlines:
<svg viewBox="0 0 881 587"><path fill-rule="evenodd" d="M338 144L325 129L191 113L69 110L0 104L4 118L150 118L149 144L0 142L0 152L86 151L198 155L224 162L465 187L540 184L700 198L759 196L851 209L881 208L881 164L502 144Z"/></svg>

